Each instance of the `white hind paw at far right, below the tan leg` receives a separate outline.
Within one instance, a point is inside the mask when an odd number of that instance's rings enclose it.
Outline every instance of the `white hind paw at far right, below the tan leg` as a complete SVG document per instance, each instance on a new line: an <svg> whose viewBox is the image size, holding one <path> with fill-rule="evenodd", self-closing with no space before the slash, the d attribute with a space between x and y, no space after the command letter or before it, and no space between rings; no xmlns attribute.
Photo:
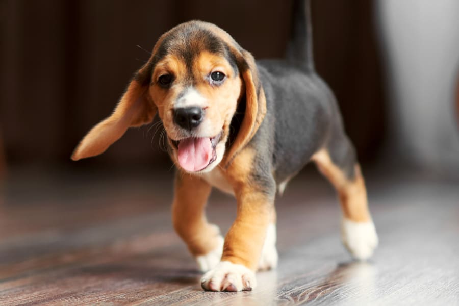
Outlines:
<svg viewBox="0 0 459 306"><path fill-rule="evenodd" d="M354 222L343 218L341 238L344 246L355 259L366 260L378 245L378 235L373 221Z"/></svg>

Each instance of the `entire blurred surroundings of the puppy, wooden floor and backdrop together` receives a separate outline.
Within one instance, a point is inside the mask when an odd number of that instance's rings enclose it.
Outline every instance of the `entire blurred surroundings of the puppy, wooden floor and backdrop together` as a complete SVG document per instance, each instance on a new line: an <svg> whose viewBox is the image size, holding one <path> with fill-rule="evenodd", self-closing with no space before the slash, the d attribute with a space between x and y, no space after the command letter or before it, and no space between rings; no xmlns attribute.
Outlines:
<svg viewBox="0 0 459 306"><path fill-rule="evenodd" d="M0 304L151 303L184 286L207 301L170 221L174 171L158 125L101 156L70 155L174 25L214 22L257 59L282 57L291 10L292 0L0 0ZM312 0L316 69L358 151L380 246L369 264L348 264L335 192L306 167L276 199L282 264L261 276L260 300L295 286L298 303L459 299L458 13L457 0ZM234 199L209 202L225 233ZM363 287L352 283L362 275Z"/></svg>

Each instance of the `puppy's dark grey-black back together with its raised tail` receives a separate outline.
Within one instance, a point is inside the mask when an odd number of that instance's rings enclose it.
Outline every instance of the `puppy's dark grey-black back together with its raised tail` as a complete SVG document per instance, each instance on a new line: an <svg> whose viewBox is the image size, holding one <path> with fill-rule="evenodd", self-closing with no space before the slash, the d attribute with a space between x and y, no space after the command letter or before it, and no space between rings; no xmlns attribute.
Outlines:
<svg viewBox="0 0 459 306"><path fill-rule="evenodd" d="M330 131L342 130L335 97L314 69L310 0L295 0L292 15L285 59L257 61L268 109L258 138L272 145L278 184L311 160Z"/></svg>

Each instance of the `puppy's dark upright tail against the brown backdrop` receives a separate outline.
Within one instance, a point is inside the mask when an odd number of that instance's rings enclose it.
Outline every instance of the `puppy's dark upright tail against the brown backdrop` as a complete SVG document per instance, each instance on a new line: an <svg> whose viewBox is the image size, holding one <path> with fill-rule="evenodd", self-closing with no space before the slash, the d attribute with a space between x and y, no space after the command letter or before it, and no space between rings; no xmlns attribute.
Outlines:
<svg viewBox="0 0 459 306"><path fill-rule="evenodd" d="M314 70L311 0L293 0L291 31L287 59Z"/></svg>

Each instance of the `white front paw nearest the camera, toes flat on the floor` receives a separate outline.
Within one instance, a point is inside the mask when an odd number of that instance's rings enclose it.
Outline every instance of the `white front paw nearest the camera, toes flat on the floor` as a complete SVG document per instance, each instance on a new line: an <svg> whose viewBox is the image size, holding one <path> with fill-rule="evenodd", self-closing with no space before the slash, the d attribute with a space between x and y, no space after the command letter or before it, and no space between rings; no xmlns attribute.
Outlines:
<svg viewBox="0 0 459 306"><path fill-rule="evenodd" d="M209 291L252 290L257 286L255 273L243 265L220 262L201 278L201 287Z"/></svg>

